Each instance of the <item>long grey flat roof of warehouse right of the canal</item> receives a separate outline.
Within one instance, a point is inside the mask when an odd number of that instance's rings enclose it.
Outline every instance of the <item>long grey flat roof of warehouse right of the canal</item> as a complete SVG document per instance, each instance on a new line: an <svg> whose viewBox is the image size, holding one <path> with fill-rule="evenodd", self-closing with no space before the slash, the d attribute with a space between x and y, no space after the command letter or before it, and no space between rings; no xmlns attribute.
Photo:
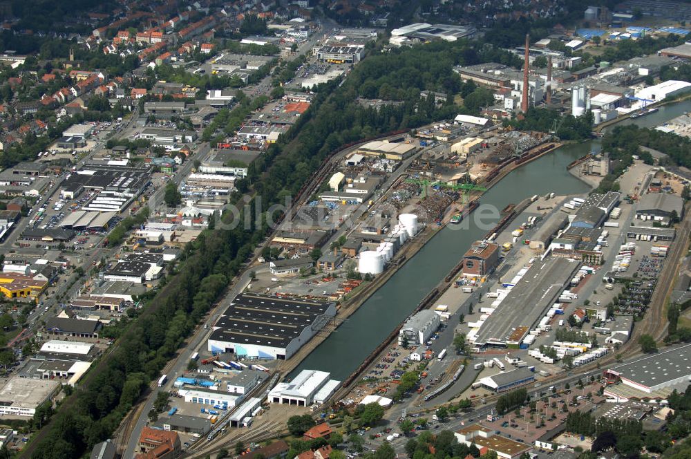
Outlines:
<svg viewBox="0 0 691 459"><path fill-rule="evenodd" d="M475 343L520 342L558 299L579 267L577 261L556 257L533 263L482 324Z"/></svg>

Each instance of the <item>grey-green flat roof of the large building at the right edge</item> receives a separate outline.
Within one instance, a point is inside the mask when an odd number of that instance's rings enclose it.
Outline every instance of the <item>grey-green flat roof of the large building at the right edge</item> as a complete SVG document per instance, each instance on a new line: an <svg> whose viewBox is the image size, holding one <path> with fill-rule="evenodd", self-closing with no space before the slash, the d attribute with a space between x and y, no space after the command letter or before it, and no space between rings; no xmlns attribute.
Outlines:
<svg viewBox="0 0 691 459"><path fill-rule="evenodd" d="M650 388L691 377L691 344L663 350L628 364L614 366L608 371Z"/></svg>

